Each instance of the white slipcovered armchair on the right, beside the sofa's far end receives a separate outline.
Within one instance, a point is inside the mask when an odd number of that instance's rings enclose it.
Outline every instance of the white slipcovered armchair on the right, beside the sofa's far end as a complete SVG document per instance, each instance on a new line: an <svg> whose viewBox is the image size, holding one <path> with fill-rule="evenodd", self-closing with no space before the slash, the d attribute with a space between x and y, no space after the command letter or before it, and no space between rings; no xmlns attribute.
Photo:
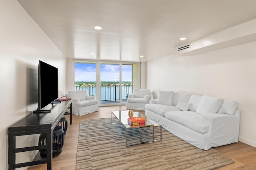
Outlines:
<svg viewBox="0 0 256 170"><path fill-rule="evenodd" d="M145 105L151 100L150 89L134 89L127 99L127 109L145 110Z"/></svg>

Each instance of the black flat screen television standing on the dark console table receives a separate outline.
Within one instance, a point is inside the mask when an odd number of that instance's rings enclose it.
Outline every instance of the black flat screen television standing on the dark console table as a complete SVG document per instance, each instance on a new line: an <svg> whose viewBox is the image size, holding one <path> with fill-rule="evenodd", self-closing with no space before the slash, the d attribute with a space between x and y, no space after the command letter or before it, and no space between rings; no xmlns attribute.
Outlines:
<svg viewBox="0 0 256 170"><path fill-rule="evenodd" d="M58 98L58 68L39 61L38 64L38 108L33 113L47 113L41 110Z"/></svg>

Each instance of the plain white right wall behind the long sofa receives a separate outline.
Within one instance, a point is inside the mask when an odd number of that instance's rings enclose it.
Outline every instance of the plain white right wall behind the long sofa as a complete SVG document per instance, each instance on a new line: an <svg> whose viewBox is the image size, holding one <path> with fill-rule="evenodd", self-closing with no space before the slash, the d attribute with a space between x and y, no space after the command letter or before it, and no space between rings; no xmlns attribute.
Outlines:
<svg viewBox="0 0 256 170"><path fill-rule="evenodd" d="M147 88L209 94L238 101L239 141L256 147L256 42L191 57L171 55L148 62Z"/></svg>

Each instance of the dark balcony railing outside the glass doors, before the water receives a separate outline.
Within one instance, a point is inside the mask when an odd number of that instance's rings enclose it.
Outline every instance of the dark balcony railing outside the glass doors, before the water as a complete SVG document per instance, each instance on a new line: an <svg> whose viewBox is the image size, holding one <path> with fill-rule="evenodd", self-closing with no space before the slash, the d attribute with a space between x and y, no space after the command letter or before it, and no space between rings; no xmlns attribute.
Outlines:
<svg viewBox="0 0 256 170"><path fill-rule="evenodd" d="M119 85L100 86L100 101L119 101ZM122 85L122 100L132 94L132 85ZM87 90L88 95L96 96L96 86L75 86L75 90Z"/></svg>

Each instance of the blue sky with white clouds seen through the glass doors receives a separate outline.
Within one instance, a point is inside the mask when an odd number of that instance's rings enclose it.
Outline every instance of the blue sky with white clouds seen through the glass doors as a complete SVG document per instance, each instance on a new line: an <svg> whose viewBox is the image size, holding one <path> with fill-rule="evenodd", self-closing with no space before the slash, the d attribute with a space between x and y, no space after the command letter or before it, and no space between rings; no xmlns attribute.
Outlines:
<svg viewBox="0 0 256 170"><path fill-rule="evenodd" d="M101 81L119 81L119 64L101 64ZM75 81L96 81L96 64L75 63ZM132 81L132 65L122 65L122 81Z"/></svg>

